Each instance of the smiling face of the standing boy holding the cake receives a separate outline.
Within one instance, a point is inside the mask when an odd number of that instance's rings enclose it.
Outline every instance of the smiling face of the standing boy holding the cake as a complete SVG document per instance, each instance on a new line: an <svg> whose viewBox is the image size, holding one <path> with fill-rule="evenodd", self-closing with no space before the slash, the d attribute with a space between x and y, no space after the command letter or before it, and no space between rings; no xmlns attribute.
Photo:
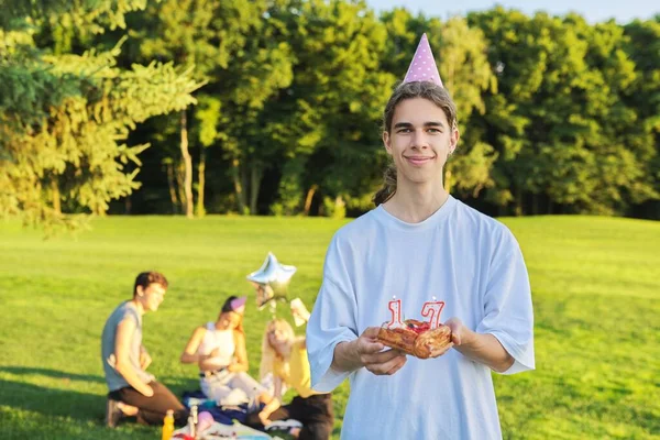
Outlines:
<svg viewBox="0 0 660 440"><path fill-rule="evenodd" d="M449 124L444 111L424 98L399 102L392 131L383 133L385 148L404 184L441 183L442 167L458 141L459 131Z"/></svg>

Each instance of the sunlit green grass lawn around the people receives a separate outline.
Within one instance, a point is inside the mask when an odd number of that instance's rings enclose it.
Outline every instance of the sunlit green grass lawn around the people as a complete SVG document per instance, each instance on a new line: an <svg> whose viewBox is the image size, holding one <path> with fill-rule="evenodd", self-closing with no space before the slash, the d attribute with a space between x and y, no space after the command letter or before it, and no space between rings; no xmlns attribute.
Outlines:
<svg viewBox="0 0 660 440"><path fill-rule="evenodd" d="M660 222L592 217L502 219L529 268L537 371L495 376L507 439L660 438ZM251 373L266 310L245 275L267 251L298 272L289 297L311 307L332 233L328 219L107 218L44 241L0 223L0 438L160 439L160 429L102 426L100 333L138 272L170 288L144 319L150 371L176 393L198 386L179 354L231 294L250 295ZM284 315L285 308L280 307ZM301 330L299 330L301 331ZM336 393L336 437L348 398Z"/></svg>

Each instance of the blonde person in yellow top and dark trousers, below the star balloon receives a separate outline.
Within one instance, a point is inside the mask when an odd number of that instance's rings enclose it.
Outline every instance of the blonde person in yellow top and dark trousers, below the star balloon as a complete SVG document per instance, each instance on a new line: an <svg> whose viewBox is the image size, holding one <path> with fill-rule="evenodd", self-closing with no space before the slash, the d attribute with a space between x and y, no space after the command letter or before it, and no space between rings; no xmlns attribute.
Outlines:
<svg viewBox="0 0 660 440"><path fill-rule="evenodd" d="M309 312L299 301L292 301L292 311L296 320L309 319ZM296 337L292 326L283 319L268 322L264 332L260 374L263 378L268 373L275 377L277 399L282 398L283 384L296 389L298 395L290 404L276 410L265 407L258 415L250 415L246 425L264 429L274 420L295 419L302 424L302 428L289 431L294 438L329 439L334 424L332 395L311 389L305 337Z"/></svg>

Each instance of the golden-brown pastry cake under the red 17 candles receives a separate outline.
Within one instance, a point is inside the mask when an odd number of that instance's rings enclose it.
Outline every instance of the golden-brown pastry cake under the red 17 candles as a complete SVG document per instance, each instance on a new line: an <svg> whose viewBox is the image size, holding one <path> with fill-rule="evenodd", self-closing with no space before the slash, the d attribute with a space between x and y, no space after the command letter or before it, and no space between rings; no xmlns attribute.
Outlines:
<svg viewBox="0 0 660 440"><path fill-rule="evenodd" d="M419 359L437 358L453 345L448 326L431 329L430 322L416 319L406 319L400 326L384 323L377 339L384 345Z"/></svg>

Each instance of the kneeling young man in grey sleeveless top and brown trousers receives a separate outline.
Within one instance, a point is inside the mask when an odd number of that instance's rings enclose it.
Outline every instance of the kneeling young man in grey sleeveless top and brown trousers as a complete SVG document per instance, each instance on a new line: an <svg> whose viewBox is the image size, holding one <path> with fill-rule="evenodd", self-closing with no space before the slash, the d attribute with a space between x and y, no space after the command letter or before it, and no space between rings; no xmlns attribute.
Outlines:
<svg viewBox="0 0 660 440"><path fill-rule="evenodd" d="M175 425L187 422L186 407L145 371L151 358L142 345L142 316L158 309L166 290L163 274L141 273L135 278L133 299L120 304L106 321L101 358L109 389L106 425L111 428L124 416L136 416L145 425L162 425L169 409Z"/></svg>

